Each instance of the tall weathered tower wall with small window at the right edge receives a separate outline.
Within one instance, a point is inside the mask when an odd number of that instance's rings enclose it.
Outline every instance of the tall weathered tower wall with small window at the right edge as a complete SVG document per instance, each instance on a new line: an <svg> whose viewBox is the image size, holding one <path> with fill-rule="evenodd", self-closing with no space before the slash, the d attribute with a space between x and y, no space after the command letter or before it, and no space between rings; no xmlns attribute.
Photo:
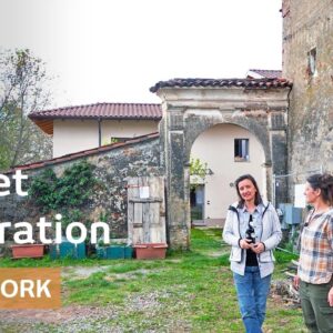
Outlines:
<svg viewBox="0 0 333 333"><path fill-rule="evenodd" d="M289 110L289 171L333 172L333 2L283 1L283 77L293 81ZM309 58L315 50L315 71ZM311 173L311 172L310 172ZM292 195L292 193L291 193Z"/></svg>

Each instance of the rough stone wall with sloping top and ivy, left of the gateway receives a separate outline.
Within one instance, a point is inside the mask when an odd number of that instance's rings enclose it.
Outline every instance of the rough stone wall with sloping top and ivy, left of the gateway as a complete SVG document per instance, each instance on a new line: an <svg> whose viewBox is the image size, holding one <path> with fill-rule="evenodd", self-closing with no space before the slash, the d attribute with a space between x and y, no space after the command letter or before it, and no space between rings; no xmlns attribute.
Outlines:
<svg viewBox="0 0 333 333"><path fill-rule="evenodd" d="M40 178L44 171L52 170L57 178L61 178L65 170L81 162L87 162L93 167L92 178L97 180L97 183L91 189L92 193L83 206L73 205L69 210L79 209L84 221L80 220L77 222L83 222L84 224L91 224L105 219L105 222L110 226L111 238L128 239L129 184L137 179L145 181L148 176L163 178L164 175L160 163L159 133L80 151L48 161L18 165L8 173L8 176L11 178L13 171L21 170L24 176L28 176L23 183L26 191L29 190L31 182L36 178ZM79 181L78 179L77 182ZM62 190L59 189L58 191ZM0 196L0 222L10 222L12 225L17 222L28 222L33 226L36 240L39 240L36 224L40 218L46 218L47 221L54 222L56 214L64 212L63 210L46 212L43 208L36 204L36 196L18 195L13 180L11 181L9 192L8 195ZM13 233L14 228L7 229L7 244L12 243ZM0 244L0 254L2 250L3 246Z"/></svg>

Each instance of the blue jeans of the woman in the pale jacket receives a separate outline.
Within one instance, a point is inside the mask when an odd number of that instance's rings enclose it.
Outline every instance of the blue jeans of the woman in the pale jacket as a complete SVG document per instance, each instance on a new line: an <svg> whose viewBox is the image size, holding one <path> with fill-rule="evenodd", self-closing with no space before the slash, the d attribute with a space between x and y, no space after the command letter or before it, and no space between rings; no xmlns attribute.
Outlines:
<svg viewBox="0 0 333 333"><path fill-rule="evenodd" d="M246 266L244 275L233 273L233 279L246 333L261 333L266 314L271 275L261 279L258 266Z"/></svg>

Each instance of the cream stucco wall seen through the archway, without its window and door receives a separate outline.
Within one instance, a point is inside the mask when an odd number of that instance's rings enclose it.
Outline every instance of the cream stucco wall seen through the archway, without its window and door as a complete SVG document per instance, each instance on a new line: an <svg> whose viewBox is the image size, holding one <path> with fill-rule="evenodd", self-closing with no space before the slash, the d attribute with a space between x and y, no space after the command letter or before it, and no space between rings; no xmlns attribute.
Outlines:
<svg viewBox="0 0 333 333"><path fill-rule="evenodd" d="M234 161L234 139L249 139L249 162ZM204 219L225 218L229 205L238 200L235 179L252 174L266 196L264 152L261 143L248 130L233 124L218 124L206 130L194 141L191 157L208 163L213 171L205 178Z"/></svg>

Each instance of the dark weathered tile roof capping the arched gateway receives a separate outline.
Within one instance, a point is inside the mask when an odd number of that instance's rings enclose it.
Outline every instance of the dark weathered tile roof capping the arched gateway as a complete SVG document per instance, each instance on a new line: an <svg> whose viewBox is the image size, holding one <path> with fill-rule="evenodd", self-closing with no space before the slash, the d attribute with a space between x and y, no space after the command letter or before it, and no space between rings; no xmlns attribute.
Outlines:
<svg viewBox="0 0 333 333"><path fill-rule="evenodd" d="M240 87L248 89L268 89L291 87L292 83L285 79L172 79L160 81L150 88L157 92L161 88L228 88Z"/></svg>

